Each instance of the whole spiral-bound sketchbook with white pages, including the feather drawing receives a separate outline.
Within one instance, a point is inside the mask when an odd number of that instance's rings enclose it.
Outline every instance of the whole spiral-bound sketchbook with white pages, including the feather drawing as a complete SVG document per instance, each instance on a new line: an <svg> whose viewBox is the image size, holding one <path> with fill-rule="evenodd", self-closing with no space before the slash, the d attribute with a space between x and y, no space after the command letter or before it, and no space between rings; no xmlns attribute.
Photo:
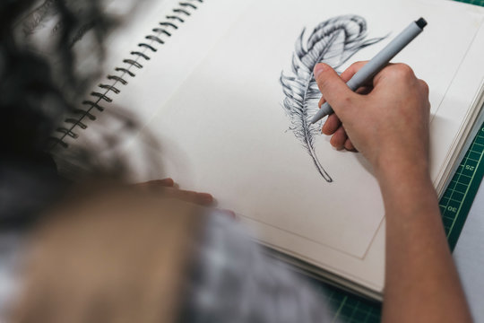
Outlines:
<svg viewBox="0 0 484 323"><path fill-rule="evenodd" d="M382 198L359 153L335 151L321 123L307 124L319 100L312 69L367 60L424 17L425 31L393 62L430 87L440 195L484 100L484 11L441 0L187 0L138 16L113 34L107 75L54 134L61 171L76 163L65 162L73 147L117 133L110 119L128 111L143 125L117 147L133 180L169 176L210 192L273 256L380 300ZM162 166L145 171L143 151Z"/></svg>

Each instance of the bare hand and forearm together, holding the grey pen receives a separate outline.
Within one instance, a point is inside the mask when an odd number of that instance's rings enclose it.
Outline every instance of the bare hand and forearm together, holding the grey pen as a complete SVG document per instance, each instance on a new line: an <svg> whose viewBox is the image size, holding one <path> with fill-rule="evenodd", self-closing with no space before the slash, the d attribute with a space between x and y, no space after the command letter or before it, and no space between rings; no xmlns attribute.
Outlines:
<svg viewBox="0 0 484 323"><path fill-rule="evenodd" d="M327 118L324 134L333 135L336 148L358 149L376 170L382 190L383 320L471 321L428 175L428 84L410 66L391 64L375 75L367 95L356 94L345 82L365 64L353 64L341 76L318 64L315 79L336 115Z"/></svg>

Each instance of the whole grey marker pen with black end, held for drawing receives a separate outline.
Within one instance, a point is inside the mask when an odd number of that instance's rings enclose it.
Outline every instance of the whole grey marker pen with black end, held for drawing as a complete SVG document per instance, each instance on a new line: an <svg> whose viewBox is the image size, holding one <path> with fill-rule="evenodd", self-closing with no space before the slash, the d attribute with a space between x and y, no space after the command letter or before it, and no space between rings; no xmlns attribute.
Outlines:
<svg viewBox="0 0 484 323"><path fill-rule="evenodd" d="M425 19L420 18L417 22L411 22L411 24L405 28L397 37L395 37L388 45L385 46L376 57L373 57L366 65L350 78L350 81L346 83L351 91L356 91L361 85L367 83L375 74L380 72L390 60L395 57L405 46L407 46L411 40L416 38L423 28L427 26ZM315 116L311 119L311 123L321 120L327 115L333 113L333 109L325 102L321 109L319 109Z"/></svg>

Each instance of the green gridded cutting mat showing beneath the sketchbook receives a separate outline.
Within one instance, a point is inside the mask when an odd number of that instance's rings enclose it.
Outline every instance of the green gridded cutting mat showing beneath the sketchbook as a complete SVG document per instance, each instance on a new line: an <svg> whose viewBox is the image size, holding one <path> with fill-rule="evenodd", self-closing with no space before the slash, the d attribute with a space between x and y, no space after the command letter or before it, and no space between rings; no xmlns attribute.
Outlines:
<svg viewBox="0 0 484 323"><path fill-rule="evenodd" d="M466 4L484 6L484 0L460 1ZM440 212L445 233L451 249L462 231L463 224L471 209L472 201L484 175L484 124L474 138L454 174L444 196L440 199ZM342 323L380 322L381 304L367 301L348 292L314 281L322 297L331 305L333 321Z"/></svg>

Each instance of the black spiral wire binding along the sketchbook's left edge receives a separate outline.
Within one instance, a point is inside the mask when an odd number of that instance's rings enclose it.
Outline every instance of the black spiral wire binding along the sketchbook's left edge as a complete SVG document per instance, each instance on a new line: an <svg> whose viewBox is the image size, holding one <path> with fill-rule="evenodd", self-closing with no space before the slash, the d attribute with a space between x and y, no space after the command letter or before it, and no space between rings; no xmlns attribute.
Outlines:
<svg viewBox="0 0 484 323"><path fill-rule="evenodd" d="M192 15L192 13L198 9L198 6L203 4L203 0L186 0L179 2L177 7L171 10L167 16L166 21L159 22L159 24L153 28L150 35L144 37L143 41L138 44L138 48L130 52L131 57L125 58L123 63L125 65L115 68L117 74L108 74L108 80L112 83L100 83L98 85L99 90L91 92L91 99L83 100L82 106L85 109L74 109L73 115L69 118L65 118L64 127L57 127L56 133L60 134L60 137L52 136L52 147L56 147L57 144L67 148L69 144L65 142L67 137L76 139L79 137L77 130L86 129L88 126L84 120L96 120L96 117L91 113L93 109L98 109L99 112L104 110L103 103L112 102L113 98L111 94L119 94L122 87L128 84L128 80L136 76L136 70L143 69L145 62L151 59L151 55L158 51L158 47L165 44L166 38L171 37L174 31L177 31L178 25L186 22L186 18ZM77 117L77 118L76 118Z"/></svg>

